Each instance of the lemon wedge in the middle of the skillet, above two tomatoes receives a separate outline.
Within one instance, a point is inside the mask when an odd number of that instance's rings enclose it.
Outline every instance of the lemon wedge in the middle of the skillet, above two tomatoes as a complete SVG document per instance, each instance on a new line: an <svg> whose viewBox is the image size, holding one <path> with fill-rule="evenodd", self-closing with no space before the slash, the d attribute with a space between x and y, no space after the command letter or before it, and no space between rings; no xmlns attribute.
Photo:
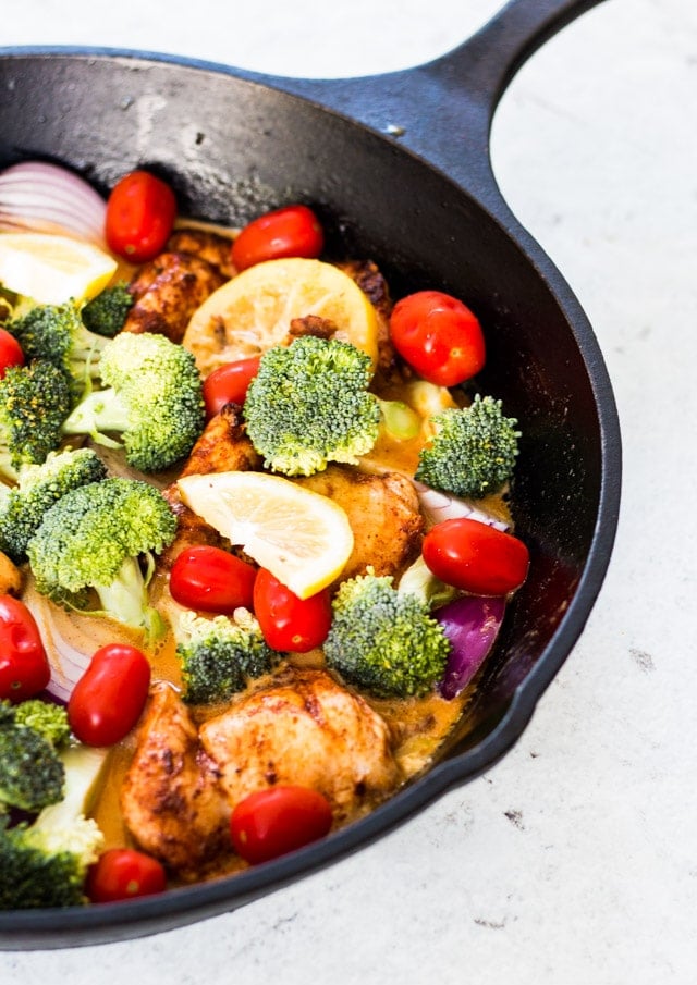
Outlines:
<svg viewBox="0 0 697 985"><path fill-rule="evenodd" d="M341 506L289 479L212 472L185 476L176 484L189 509L301 599L333 581L353 551Z"/></svg>

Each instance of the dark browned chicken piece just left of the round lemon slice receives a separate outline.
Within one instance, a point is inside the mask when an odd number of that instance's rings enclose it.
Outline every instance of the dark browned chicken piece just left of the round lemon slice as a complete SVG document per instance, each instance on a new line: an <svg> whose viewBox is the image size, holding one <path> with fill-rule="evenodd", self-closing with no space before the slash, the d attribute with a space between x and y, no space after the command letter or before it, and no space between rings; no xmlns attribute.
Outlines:
<svg viewBox="0 0 697 985"><path fill-rule="evenodd" d="M193 254L160 254L129 285L135 303L123 331L154 332L181 342L196 308L224 281L216 267Z"/></svg>

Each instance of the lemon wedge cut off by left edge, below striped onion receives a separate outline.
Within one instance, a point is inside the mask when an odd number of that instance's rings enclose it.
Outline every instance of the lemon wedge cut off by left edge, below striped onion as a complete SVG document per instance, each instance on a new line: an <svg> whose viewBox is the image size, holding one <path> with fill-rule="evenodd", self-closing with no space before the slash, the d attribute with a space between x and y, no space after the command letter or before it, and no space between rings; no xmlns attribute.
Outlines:
<svg viewBox="0 0 697 985"><path fill-rule="evenodd" d="M117 270L109 254L51 233L0 234L0 283L40 305L94 297Z"/></svg>

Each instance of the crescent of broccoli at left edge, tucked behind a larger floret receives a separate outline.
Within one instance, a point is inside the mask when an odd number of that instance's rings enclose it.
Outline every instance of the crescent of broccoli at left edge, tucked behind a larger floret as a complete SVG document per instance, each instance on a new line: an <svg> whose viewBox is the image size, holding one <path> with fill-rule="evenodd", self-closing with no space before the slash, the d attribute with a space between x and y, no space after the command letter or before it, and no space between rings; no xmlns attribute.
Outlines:
<svg viewBox="0 0 697 985"><path fill-rule="evenodd" d="M22 564L47 509L72 489L106 477L106 466L90 448L51 452L40 465L23 466L17 472L17 484L3 489L0 495L2 551Z"/></svg>

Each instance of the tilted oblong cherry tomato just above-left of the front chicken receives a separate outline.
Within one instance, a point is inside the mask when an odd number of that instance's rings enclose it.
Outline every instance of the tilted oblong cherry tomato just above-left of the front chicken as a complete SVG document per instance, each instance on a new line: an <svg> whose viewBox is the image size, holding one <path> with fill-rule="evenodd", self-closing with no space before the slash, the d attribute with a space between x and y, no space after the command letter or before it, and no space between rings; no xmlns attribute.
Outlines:
<svg viewBox="0 0 697 985"><path fill-rule="evenodd" d="M113 746L140 717L150 664L135 647L108 643L93 656L68 701L68 721L87 746Z"/></svg>

